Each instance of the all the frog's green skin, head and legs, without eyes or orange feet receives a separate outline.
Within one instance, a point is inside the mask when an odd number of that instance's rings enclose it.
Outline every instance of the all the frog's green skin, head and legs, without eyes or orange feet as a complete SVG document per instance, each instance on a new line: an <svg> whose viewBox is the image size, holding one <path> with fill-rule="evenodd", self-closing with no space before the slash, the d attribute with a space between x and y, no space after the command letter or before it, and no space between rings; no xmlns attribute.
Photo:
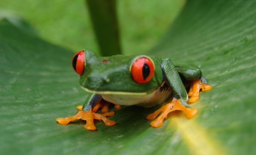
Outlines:
<svg viewBox="0 0 256 155"><path fill-rule="evenodd" d="M190 81L201 78L201 70L195 65L175 66L171 59L147 56L154 62L154 76L148 83L139 84L132 79L130 68L135 59L145 55L101 57L93 51L86 50L84 56L85 67L80 76L80 85L96 93L88 96L83 110L88 110L99 100L100 93L97 92L151 93L160 87L163 80L172 89L173 96L188 107L188 95L182 79ZM204 78L201 79L204 81Z"/></svg>

